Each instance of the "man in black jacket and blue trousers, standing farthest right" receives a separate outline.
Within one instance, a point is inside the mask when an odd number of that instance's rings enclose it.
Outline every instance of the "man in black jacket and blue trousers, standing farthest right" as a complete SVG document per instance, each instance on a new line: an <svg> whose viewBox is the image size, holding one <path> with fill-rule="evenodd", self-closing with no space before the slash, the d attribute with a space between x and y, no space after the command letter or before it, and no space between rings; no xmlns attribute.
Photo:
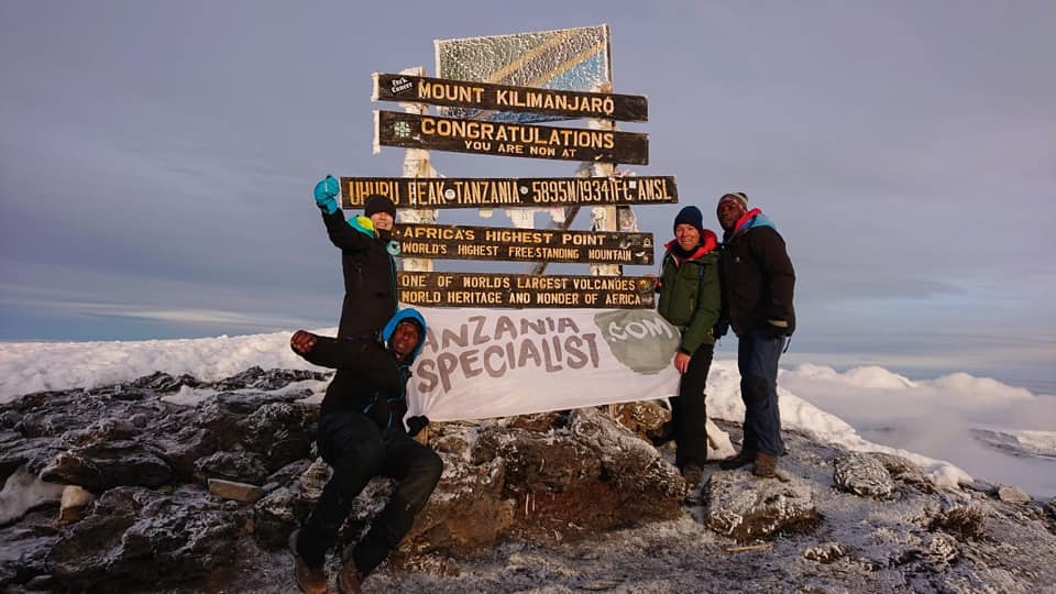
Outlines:
<svg viewBox="0 0 1056 594"><path fill-rule="evenodd" d="M737 334L745 438L740 452L719 463L755 463L757 476L774 476L784 453L778 410L778 360L795 331L795 271L784 240L748 196L725 194L715 210L723 235L723 314Z"/></svg>

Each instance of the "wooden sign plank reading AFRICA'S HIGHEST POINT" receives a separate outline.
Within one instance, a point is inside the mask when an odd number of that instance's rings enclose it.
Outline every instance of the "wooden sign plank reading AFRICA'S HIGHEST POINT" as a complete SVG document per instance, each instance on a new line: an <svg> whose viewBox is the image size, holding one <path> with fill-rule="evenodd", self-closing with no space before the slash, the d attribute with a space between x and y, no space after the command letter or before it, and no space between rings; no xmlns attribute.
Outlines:
<svg viewBox="0 0 1056 594"><path fill-rule="evenodd" d="M651 233L397 224L393 239L403 257L638 265L653 260Z"/></svg>

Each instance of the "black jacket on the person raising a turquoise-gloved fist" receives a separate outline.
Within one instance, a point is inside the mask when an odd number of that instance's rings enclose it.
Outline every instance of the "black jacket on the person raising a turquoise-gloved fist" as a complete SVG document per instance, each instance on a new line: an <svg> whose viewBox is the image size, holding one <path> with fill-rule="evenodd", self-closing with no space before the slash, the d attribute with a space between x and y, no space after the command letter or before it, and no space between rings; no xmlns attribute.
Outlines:
<svg viewBox="0 0 1056 594"><path fill-rule="evenodd" d="M338 338L381 332L396 314L396 263L385 243L374 237L370 219L344 220L338 210L322 215L330 241L341 250L344 304Z"/></svg>

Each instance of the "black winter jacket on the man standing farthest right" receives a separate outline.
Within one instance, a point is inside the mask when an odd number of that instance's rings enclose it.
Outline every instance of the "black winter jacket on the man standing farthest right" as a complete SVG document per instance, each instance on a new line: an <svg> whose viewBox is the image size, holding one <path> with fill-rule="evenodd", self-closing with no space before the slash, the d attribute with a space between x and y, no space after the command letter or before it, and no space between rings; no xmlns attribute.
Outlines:
<svg viewBox="0 0 1056 594"><path fill-rule="evenodd" d="M795 271L784 239L761 212L728 237L723 246L723 317L738 337L770 328L768 320L795 331L792 293Z"/></svg>

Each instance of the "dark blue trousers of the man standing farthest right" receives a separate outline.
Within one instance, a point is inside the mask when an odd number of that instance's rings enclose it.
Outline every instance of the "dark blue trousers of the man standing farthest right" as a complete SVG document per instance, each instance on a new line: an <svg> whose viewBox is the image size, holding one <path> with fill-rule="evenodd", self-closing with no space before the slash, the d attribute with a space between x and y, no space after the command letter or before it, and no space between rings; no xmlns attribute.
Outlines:
<svg viewBox="0 0 1056 594"><path fill-rule="evenodd" d="M738 337L737 367L740 370L740 398L745 403L745 450L784 454L781 413L778 410L778 360L784 341L763 330Z"/></svg>

